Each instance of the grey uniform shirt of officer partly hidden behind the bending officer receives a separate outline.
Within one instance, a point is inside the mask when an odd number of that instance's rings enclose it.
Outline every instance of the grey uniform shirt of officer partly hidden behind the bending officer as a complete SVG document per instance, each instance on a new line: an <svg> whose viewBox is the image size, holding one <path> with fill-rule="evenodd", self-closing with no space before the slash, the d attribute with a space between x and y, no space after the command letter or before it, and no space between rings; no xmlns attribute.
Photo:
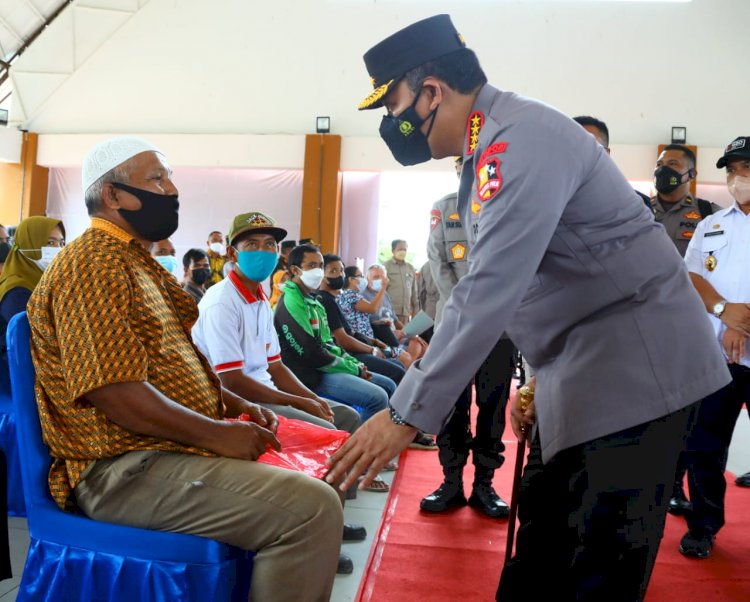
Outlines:
<svg viewBox="0 0 750 602"><path fill-rule="evenodd" d="M430 236L427 239L427 258L440 299L435 324L440 322L443 306L453 287L469 273L469 241L458 214L458 194L451 193L432 205Z"/></svg>

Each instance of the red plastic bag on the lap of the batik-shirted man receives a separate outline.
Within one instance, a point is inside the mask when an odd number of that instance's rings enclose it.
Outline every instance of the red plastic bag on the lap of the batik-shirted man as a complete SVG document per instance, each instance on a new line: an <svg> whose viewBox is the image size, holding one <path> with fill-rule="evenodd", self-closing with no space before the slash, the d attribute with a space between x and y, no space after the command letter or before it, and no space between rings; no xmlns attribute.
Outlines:
<svg viewBox="0 0 750 602"><path fill-rule="evenodd" d="M279 468L299 470L316 479L326 476L326 460L344 444L349 433L284 416L278 418L276 438L281 442L281 451L269 448L257 461ZM250 416L240 414L235 420L249 422Z"/></svg>

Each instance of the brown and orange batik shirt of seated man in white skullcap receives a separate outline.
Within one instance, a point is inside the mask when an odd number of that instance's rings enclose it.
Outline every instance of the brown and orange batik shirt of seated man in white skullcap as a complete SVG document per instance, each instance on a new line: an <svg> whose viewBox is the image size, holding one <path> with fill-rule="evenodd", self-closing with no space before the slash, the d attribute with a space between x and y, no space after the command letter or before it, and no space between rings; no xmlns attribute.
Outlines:
<svg viewBox="0 0 750 602"><path fill-rule="evenodd" d="M224 415L219 381L190 338L195 302L127 232L94 218L45 271L28 315L49 486L62 508L94 460L144 449L213 455L129 431L86 399L148 382L204 416Z"/></svg>

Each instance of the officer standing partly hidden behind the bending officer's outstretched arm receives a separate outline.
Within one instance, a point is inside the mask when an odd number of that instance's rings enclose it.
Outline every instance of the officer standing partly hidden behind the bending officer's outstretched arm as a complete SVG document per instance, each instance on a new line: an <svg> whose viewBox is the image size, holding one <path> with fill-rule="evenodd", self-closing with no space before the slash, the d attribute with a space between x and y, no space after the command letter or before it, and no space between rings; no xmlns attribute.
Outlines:
<svg viewBox="0 0 750 602"><path fill-rule="evenodd" d="M460 159L457 162L460 169ZM443 306L458 281L469 272L468 239L458 214L458 195L444 196L432 206L427 256L430 271L440 291L436 311L436 327ZM464 495L463 471L471 451L474 483L468 503L492 518L504 518L508 505L492 486L495 470L505 461L503 431L505 406L514 371L515 349L508 337L502 337L474 375L473 383L461 391L455 411L437 436L438 459L443 469L443 482L422 499L419 507L426 512L444 512L467 503ZM474 387L472 387L472 384ZM472 389L476 389L476 432L471 433Z"/></svg>

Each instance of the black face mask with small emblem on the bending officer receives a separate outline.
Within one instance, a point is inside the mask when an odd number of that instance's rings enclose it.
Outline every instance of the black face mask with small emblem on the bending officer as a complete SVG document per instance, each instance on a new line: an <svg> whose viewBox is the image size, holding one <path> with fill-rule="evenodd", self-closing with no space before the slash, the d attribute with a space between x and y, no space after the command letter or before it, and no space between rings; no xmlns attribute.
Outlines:
<svg viewBox="0 0 750 602"><path fill-rule="evenodd" d="M422 94L421 90L414 98L414 102L404 109L400 115L385 115L380 122L380 137L393 153L393 158L401 165L416 165L432 159L427 139L432 132L432 126L435 125L435 117L439 106L435 107L435 110L425 119L422 119L417 115L414 108L420 94ZM427 130L427 135L425 135L419 128L430 118L432 118L432 122Z"/></svg>

